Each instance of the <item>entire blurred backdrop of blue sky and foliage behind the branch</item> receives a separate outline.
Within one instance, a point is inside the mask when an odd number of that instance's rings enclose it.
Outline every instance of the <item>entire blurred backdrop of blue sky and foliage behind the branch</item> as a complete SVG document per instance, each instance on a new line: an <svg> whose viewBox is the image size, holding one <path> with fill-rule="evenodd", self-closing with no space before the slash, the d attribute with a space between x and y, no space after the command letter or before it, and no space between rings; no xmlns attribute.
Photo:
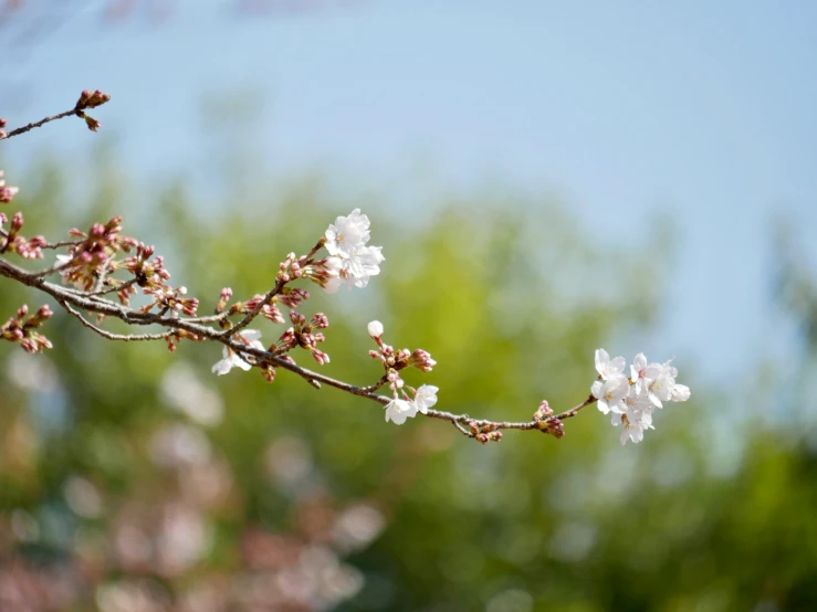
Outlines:
<svg viewBox="0 0 817 612"><path fill-rule="evenodd" d="M0 610L817 609L815 41L808 2L0 1L10 127L113 96L0 144L30 233L123 214L205 312L360 207L326 373L376 379L378 318L453 412L570 407L600 346L693 390L638 446L483 447L57 314L0 347Z"/></svg>

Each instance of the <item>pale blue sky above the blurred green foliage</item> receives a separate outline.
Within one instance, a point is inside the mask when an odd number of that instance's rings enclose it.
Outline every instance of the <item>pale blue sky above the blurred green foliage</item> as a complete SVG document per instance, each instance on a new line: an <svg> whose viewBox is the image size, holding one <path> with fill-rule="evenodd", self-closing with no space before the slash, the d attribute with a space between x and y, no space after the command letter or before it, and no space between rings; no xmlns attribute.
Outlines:
<svg viewBox="0 0 817 612"><path fill-rule="evenodd" d="M555 192L611 253L663 212L680 250L654 357L716 381L794 346L768 296L771 228L786 214L804 243L817 232L817 4L359 0L249 19L179 0L161 25L105 28L99 1L72 4L36 44L0 42L11 126L101 87L113 104L95 116L150 181L201 171L220 134L202 137L202 93L258 92L253 171L387 190L428 168L412 205L439 186ZM4 156L81 159L90 141L62 122Z"/></svg>

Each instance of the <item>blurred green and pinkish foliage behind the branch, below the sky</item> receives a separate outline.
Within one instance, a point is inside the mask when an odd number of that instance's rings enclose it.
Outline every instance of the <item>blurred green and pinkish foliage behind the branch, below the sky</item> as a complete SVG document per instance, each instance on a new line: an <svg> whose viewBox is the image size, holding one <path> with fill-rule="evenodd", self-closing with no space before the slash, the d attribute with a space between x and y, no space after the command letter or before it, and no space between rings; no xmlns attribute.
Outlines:
<svg viewBox="0 0 817 612"><path fill-rule="evenodd" d="M266 289L359 203L329 203L314 179L220 203L180 182L147 209L115 168L99 176L81 212L56 166L18 181L14 203L51 238L125 211L202 313L224 284ZM543 397L586 397L594 349L658 314L661 245L611 257L556 202L363 208L383 274L302 309L328 314L322 371L342 380L377 379L365 324L379 318L388 342L438 360L408 382L439 386L441 409L526 420ZM0 313L22 302L40 304L3 282ZM639 446L593 410L563 440L481 446L283 371L217 379L212 346L113 344L62 314L48 336L45 356L0 346L0 610L817 609L816 449L779 423L735 424L726 463L710 431L724 400L689 365L693 401Z"/></svg>

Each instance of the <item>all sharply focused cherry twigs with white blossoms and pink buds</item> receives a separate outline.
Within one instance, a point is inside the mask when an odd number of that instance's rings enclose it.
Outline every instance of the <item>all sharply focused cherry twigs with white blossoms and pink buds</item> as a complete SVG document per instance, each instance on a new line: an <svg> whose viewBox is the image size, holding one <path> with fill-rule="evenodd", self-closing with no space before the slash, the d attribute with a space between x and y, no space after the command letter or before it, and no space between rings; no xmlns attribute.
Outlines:
<svg viewBox="0 0 817 612"><path fill-rule="evenodd" d="M74 109L46 117L29 124L0 138L24 134L49 122L76 115L85 119L88 128L96 130L98 122L85 115L84 110L105 104L111 96L96 92L83 92ZM4 126L4 122L0 127ZM9 203L18 188L7 187L1 180L0 203ZM122 218L115 217L107 223L94 223L87 232L73 229L71 240L49 242L44 236L27 239L21 234L24 225L22 212L11 219L9 229L2 228L9 220L0 212L0 276L21 283L44 293L80 324L94 334L114 341L166 341L170 351L181 340L212 341L222 345L223 358L212 371L226 374L238 367L242 370L260 370L269 382L273 382L277 369L283 369L303 378L316 389L323 386L357 395L385 408L386 421L402 424L409 418L422 414L430 419L450 422L460 433L486 444L502 439L502 430L536 430L554 437L564 436L564 421L576 416L590 404L598 404L599 411L612 415L612 424L621 426L621 443L627 440L640 442L643 433L652 429L652 411L662 402L684 401L689 388L675 383L677 370L670 362L647 363L643 355L638 355L631 366L631 378L624 373L626 362L622 357L610 359L599 349L596 351L597 380L591 386L590 395L582 403L554 415L548 402L543 400L530 421L491 421L473 419L468 414L437 410L439 388L422 384L415 389L406 384L401 371L415 368L422 372L432 371L437 362L423 349L410 351L395 349L383 340L384 327L379 321L368 325L368 335L376 342L377 350L369 357L379 360L383 376L373 384L359 387L336 380L300 366L292 354L298 349L307 351L320 365L329 362L329 356L318 349L325 340L324 329L329 325L323 313L311 318L298 312L310 293L293 286L296 281L315 283L328 293L334 293L344 284L364 288L369 278L380 273L385 261L380 246L368 245L369 220L356 209L348 217L338 217L310 252L302 256L290 253L279 265L275 282L264 294L254 295L245 302L234 302L229 287L221 289L213 315L199 316L199 299L187 296L185 286L169 284L170 273L165 267L164 257L155 254L135 239L121 234ZM8 256L28 260L43 257L43 250L65 249L56 255L56 263L43 270L29 272L13 263ZM328 255L317 258L321 250ZM128 256L124 256L128 255ZM125 274L128 278L116 277ZM59 275L62 285L46 278ZM64 286L63 286L64 285ZM138 308L130 306L130 298L138 293L148 303ZM116 294L117 302L104 296ZM271 324L285 323L281 307L289 308L292 324L271 345L261 344L261 331L250 325L266 319ZM86 318L82 312L95 314L97 323ZM19 344L29 352L40 352L52 348L51 342L38 329L52 316L48 305L29 315L23 305L15 316L0 326L0 339ZM105 329L102 323L116 318L128 326L160 327L161 331L145 334L115 334ZM238 320L234 320L238 319ZM213 327L216 326L216 327ZM378 393L387 387L389 395Z"/></svg>

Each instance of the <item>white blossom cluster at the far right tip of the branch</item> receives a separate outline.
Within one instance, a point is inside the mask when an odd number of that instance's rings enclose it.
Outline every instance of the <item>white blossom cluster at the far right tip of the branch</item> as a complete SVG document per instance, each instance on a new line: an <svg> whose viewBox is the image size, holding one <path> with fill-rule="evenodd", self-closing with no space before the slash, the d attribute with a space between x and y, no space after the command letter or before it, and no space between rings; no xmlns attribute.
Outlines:
<svg viewBox="0 0 817 612"><path fill-rule="evenodd" d="M678 370L671 361L648 363L639 352L628 377L624 357L610 359L605 349L596 350L599 379L593 383L590 392L598 400L598 410L611 414L612 425L621 425L621 444L628 440L641 442L645 432L654 429L652 412L663 408L664 402L683 402L690 398L690 388L675 382Z"/></svg>

